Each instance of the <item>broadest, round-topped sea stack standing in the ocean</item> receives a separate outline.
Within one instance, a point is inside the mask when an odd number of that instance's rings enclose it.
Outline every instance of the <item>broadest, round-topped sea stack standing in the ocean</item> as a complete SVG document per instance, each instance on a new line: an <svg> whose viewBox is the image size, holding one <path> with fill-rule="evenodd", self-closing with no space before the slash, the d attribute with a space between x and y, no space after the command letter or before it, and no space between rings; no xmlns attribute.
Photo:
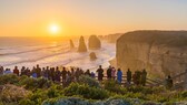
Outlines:
<svg viewBox="0 0 187 105"><path fill-rule="evenodd" d="M88 46L89 49L100 49L100 40L96 35L90 35L88 40Z"/></svg>

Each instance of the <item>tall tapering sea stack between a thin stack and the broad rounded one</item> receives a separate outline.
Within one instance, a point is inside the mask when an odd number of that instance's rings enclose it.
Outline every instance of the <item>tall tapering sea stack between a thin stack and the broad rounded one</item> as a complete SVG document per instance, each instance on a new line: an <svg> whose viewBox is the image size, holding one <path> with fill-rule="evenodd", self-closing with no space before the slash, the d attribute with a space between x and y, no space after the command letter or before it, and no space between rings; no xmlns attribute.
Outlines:
<svg viewBox="0 0 187 105"><path fill-rule="evenodd" d="M87 52L87 46L83 36L80 36L79 39L78 52Z"/></svg>

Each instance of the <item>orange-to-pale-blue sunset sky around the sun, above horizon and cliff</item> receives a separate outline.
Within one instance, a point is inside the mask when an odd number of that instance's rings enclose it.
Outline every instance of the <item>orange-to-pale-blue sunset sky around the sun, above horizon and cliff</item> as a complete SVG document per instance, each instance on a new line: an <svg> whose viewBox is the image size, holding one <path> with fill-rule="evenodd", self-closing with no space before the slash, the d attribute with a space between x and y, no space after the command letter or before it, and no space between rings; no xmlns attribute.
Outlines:
<svg viewBox="0 0 187 105"><path fill-rule="evenodd" d="M187 0L0 0L0 36L186 29Z"/></svg>

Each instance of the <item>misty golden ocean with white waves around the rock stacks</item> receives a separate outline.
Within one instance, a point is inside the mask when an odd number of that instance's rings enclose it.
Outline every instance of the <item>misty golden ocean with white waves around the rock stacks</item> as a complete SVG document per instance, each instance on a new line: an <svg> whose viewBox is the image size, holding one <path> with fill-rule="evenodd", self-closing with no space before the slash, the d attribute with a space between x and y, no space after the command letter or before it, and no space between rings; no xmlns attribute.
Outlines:
<svg viewBox="0 0 187 105"><path fill-rule="evenodd" d="M68 38L0 38L0 65L13 69L32 69L37 64L45 66L76 66L96 71L99 65L108 67L116 56L116 45L101 41L101 49L77 52L78 39L73 39L75 49L70 49ZM87 39L86 39L86 43ZM89 53L95 52L97 60L91 61Z"/></svg>

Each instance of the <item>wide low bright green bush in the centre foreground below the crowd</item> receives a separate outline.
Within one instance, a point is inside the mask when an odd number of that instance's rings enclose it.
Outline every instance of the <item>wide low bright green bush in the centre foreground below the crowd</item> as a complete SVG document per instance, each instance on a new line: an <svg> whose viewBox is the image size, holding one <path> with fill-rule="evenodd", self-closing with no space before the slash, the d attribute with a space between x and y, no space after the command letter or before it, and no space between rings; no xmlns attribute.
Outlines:
<svg viewBox="0 0 187 105"><path fill-rule="evenodd" d="M83 98L105 99L109 97L109 92L98 87L90 87L88 84L71 83L63 91L65 96L80 95Z"/></svg>

